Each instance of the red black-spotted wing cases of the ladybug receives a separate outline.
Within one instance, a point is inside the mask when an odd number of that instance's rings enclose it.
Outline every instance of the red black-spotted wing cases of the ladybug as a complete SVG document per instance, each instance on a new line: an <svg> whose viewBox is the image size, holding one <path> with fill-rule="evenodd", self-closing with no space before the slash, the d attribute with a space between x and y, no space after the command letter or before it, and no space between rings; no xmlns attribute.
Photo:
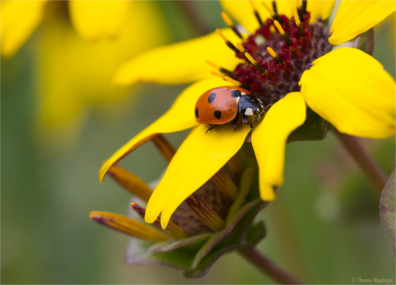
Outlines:
<svg viewBox="0 0 396 285"><path fill-rule="evenodd" d="M250 92L234 86L222 86L206 91L195 104L195 120L206 125L230 122L238 113L240 96L245 94Z"/></svg>

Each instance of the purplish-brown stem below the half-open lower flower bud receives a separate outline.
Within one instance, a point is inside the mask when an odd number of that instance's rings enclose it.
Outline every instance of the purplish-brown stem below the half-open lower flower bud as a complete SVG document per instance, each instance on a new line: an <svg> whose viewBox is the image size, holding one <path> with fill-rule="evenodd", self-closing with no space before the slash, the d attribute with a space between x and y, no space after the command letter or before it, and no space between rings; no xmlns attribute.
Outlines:
<svg viewBox="0 0 396 285"><path fill-rule="evenodd" d="M240 251L240 254L280 284L305 284L297 277L274 264L274 262L259 253L255 248L249 251Z"/></svg>

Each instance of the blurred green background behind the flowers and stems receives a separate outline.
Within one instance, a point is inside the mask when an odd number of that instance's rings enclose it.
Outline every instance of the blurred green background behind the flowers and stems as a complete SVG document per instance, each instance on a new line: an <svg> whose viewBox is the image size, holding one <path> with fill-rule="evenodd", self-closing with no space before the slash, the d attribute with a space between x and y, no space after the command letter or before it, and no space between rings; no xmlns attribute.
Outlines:
<svg viewBox="0 0 396 285"><path fill-rule="evenodd" d="M152 4L167 25L167 42L225 26L216 1ZM395 78L394 19L393 13L375 28L373 56ZM137 84L112 103L85 106L84 124L72 139L43 135L37 127L35 61L44 22L15 57L1 61L1 283L272 283L236 253L220 258L203 279L123 262L128 236L88 214L125 215L131 196L110 179L100 184L97 173L102 161L168 110L186 86ZM177 147L187 133L166 137ZM364 144L389 174L395 137ZM149 142L121 165L150 182L166 162ZM396 279L379 198L331 132L323 141L287 145L285 183L257 218L268 230L259 249L308 283Z"/></svg>

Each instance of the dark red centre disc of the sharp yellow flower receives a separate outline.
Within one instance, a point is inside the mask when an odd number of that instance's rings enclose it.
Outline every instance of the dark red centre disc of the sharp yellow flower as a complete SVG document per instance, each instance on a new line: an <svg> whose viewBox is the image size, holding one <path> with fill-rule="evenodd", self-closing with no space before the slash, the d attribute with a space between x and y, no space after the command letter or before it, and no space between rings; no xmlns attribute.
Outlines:
<svg viewBox="0 0 396 285"><path fill-rule="evenodd" d="M243 88L259 97L263 103L270 105L289 92L300 91L298 83L304 70L312 67L312 61L328 53L332 47L327 40L329 28L320 20L309 24L309 12L305 12L300 27L296 26L294 17L278 17L281 18L280 22L283 21L281 26L286 32L286 40L278 29L275 28L276 32L271 32L275 27L274 19L268 19L242 44L266 72L263 74L249 61L239 64L232 72L234 79L242 83ZM272 48L278 54L278 58L274 59L267 47ZM236 56L244 58L242 53L236 53Z"/></svg>

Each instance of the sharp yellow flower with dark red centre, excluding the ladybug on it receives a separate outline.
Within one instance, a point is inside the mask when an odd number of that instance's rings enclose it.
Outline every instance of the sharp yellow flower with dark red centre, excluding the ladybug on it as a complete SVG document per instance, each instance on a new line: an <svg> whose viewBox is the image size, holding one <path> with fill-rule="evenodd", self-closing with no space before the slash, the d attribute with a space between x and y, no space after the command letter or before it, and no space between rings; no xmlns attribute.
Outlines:
<svg viewBox="0 0 396 285"><path fill-rule="evenodd" d="M162 213L162 228L166 228L177 206L238 152L250 131L250 127L240 125L232 132L228 123L206 133L206 125L196 122L194 106L198 97L208 89L225 85L221 78L208 77L213 66L218 65L217 71L234 78L224 76L226 80L238 80L237 84L247 86L270 105L251 133L259 165L260 196L265 201L272 201L274 187L283 183L286 140L305 122L306 105L349 135L383 139L395 133L393 78L377 60L354 48L357 45L351 47L360 39L359 34L395 11L393 1L341 1L330 29L320 19L309 17L312 12L314 17L326 19L332 8L329 2L303 1L297 9L293 8L294 1L277 2L274 9L268 7L272 6L270 1L264 3L264 8L254 1L253 7L247 1L221 3L251 36L241 36L244 29L223 14L230 28L218 30L220 36L212 33L152 49L126 63L114 76L114 82L120 85L196 81L179 95L168 112L122 146L99 171L102 181L114 163L156 134L193 127L148 201L145 221L152 223ZM294 18L287 18L292 15ZM335 46L352 39L344 47ZM331 45L335 46L333 51ZM244 57L252 57L255 66ZM206 61L215 65L207 65Z"/></svg>

